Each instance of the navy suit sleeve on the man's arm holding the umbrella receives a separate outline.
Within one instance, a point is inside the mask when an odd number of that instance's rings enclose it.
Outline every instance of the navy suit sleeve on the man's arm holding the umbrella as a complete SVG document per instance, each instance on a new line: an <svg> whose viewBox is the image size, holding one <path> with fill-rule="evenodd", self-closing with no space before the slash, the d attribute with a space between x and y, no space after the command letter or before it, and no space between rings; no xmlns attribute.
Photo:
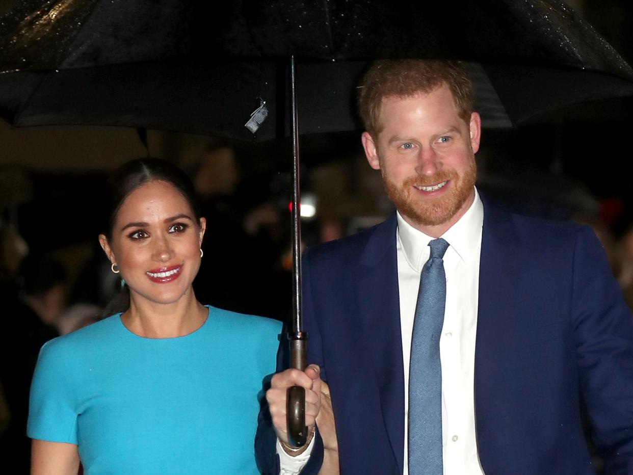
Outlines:
<svg viewBox="0 0 633 475"><path fill-rule="evenodd" d="M302 285L301 298L302 302L302 318L304 329L308 332L308 364L318 364L321 367L321 377L325 379L325 367L323 367L323 357L321 352L320 333L315 324L312 296L310 291L310 267L308 264L309 251L303 253L301 259ZM314 329L314 330L313 330ZM284 371L290 367L290 352L287 326L284 324L277 350L277 372ZM279 457L276 452L277 435L273 428L268 404L266 403L265 392L270 388L270 377L264 380L264 387L260 393L260 414L257 421L257 433L255 435L255 458L257 460L258 469L262 474L277 475L279 474ZM315 446L312 449L310 460L303 467L301 475L316 475L323 463L323 440L316 428Z"/></svg>

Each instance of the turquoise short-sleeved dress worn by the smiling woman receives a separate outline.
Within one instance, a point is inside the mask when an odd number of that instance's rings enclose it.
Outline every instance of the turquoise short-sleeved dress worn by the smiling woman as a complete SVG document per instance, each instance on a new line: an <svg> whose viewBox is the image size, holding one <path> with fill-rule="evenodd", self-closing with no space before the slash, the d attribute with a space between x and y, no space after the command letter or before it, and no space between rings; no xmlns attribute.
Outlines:
<svg viewBox="0 0 633 475"><path fill-rule="evenodd" d="M28 436L77 444L86 475L256 474L258 393L280 330L209 307L178 338L142 338L117 314L53 339L35 369Z"/></svg>

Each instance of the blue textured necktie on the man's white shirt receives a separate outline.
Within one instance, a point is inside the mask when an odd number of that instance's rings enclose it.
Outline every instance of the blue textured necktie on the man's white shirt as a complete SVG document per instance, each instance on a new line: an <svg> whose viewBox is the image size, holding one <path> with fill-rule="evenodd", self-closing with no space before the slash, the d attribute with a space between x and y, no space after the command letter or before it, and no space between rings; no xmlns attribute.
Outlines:
<svg viewBox="0 0 633 475"><path fill-rule="evenodd" d="M439 337L444 324L446 274L444 239L430 241L431 254L422 267L411 337L409 368L410 475L442 475L442 367Z"/></svg>

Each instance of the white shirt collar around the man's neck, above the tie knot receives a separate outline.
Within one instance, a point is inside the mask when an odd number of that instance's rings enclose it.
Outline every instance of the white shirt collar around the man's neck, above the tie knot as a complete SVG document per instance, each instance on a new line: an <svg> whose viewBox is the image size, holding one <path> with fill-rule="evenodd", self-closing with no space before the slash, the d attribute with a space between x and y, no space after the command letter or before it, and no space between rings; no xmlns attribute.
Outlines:
<svg viewBox="0 0 633 475"><path fill-rule="evenodd" d="M411 268L420 271L429 257L429 241L434 238L408 224L399 212L396 215L398 218L398 244L403 249L404 256ZM484 205L482 205L477 188L475 188L475 200L470 208L441 237L448 241L450 248L453 248L463 262L470 265L481 249L483 225Z"/></svg>

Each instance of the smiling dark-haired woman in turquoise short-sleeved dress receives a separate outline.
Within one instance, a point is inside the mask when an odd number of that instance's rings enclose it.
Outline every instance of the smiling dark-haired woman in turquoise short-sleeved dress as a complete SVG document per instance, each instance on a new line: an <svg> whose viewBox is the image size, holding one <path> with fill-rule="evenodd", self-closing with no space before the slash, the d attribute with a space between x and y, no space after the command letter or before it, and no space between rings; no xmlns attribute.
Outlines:
<svg viewBox="0 0 633 475"><path fill-rule="evenodd" d="M32 474L76 474L80 460L87 475L256 473L257 395L280 324L196 300L206 222L178 168L135 160L113 178L99 241L128 300L42 347Z"/></svg>

